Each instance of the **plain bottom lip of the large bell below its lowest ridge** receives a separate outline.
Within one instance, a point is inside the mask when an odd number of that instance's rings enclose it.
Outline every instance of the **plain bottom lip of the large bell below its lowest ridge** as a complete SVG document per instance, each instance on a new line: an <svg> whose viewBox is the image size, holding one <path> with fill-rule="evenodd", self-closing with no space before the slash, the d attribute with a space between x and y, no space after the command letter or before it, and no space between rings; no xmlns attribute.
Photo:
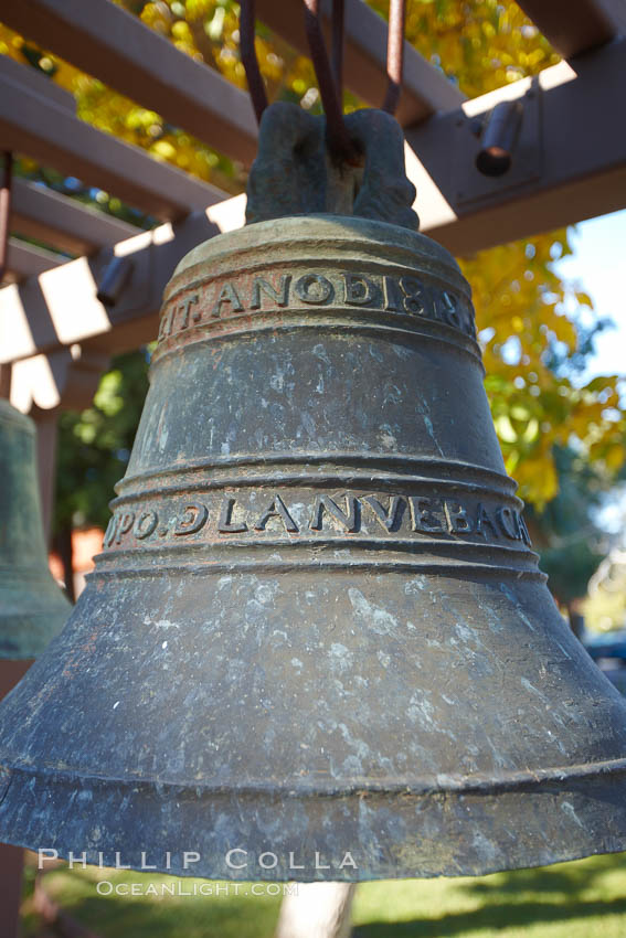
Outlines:
<svg viewBox="0 0 626 938"><path fill-rule="evenodd" d="M247 790L221 786L211 792L187 785L172 792L162 780L105 780L68 771L54 777L0 765L0 840L34 850L54 849L62 857L85 852L87 862L100 866L115 866L121 853L126 868L183 877L364 882L478 876L626 849L626 799L616 790L622 776L626 793L626 759L577 768L582 771L518 772L518 782L508 790L485 779L475 790L359 789L316 797L314 791L274 785ZM18 776L22 785L17 784ZM82 802L88 803L87 812L81 809ZM268 812L283 819L279 842L273 843L264 827ZM256 825L255 818L261 818ZM138 820L135 838L129 834L125 849L129 819ZM309 821L312 834L307 830ZM51 835L51 830L60 834ZM343 840L338 841L338 835ZM188 841L181 840L185 836ZM456 852L450 843L458 844ZM304 868L287 865L288 851L304 850L303 844L308 848ZM166 865L165 851L170 845ZM257 857L270 851L280 861L272 867L257 863L254 868L236 870L225 862L233 846ZM188 849L200 855L191 868L181 864ZM359 861L356 871L317 865L318 856L348 852ZM150 867L140 865L145 862Z"/></svg>

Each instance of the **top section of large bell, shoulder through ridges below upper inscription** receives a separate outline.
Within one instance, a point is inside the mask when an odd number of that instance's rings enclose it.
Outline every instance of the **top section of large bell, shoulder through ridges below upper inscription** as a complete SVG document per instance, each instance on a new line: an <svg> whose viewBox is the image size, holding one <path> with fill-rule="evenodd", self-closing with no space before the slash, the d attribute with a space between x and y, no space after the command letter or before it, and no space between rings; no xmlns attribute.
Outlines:
<svg viewBox="0 0 626 938"><path fill-rule="evenodd" d="M194 248L166 290L155 362L203 339L312 327L395 330L480 359L470 290L449 255L394 225L303 221L262 222ZM372 239L383 232L386 241ZM264 236L270 259L258 251Z"/></svg>

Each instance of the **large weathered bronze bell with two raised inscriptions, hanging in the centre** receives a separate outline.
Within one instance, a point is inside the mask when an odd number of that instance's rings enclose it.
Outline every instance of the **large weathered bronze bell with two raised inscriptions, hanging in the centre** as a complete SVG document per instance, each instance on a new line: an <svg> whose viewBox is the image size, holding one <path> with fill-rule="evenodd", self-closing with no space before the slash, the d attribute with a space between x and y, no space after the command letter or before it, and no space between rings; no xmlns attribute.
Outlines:
<svg viewBox="0 0 626 938"><path fill-rule="evenodd" d="M626 848L626 704L538 569L469 287L364 149L368 217L176 270L105 551L0 708L0 839L303 881Z"/></svg>

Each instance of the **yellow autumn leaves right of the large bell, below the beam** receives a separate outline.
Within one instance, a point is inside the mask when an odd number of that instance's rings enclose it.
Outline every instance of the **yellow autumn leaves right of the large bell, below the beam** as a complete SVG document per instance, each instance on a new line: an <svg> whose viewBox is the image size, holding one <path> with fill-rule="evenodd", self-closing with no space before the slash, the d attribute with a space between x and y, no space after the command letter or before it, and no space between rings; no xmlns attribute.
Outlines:
<svg viewBox="0 0 626 938"><path fill-rule="evenodd" d="M624 459L619 377L581 382L583 330L563 307L591 300L555 274L554 258L566 253L563 231L461 260L474 289L486 387L507 471L522 498L539 508L558 493L558 448L573 447L607 480Z"/></svg>

